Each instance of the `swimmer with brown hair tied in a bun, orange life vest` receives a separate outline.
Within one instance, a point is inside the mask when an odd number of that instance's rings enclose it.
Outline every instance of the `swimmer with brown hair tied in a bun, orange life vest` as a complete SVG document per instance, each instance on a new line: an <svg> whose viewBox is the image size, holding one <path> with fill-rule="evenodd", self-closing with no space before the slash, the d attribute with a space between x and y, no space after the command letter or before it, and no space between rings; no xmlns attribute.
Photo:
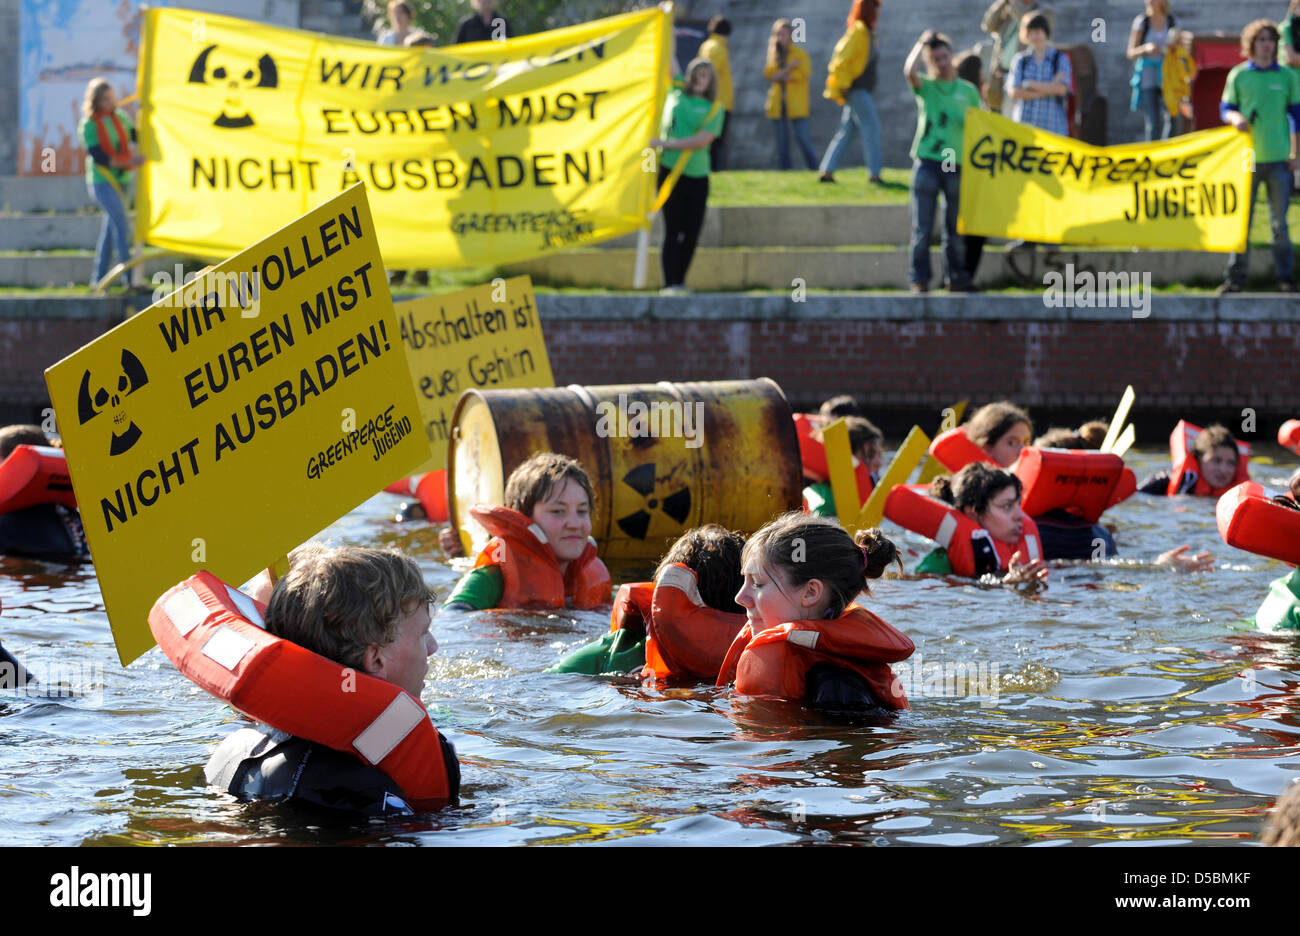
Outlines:
<svg viewBox="0 0 1300 936"><path fill-rule="evenodd" d="M906 708L889 663L907 659L913 642L853 603L897 559L878 529L854 540L833 520L801 512L767 524L745 543L736 603L748 623L718 685L831 708Z"/></svg>

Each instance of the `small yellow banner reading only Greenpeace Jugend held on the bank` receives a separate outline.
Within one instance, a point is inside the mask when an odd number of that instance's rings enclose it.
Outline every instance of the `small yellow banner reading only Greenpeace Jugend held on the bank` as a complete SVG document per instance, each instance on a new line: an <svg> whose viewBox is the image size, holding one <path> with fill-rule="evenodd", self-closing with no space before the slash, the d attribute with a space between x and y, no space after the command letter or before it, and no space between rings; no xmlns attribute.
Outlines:
<svg viewBox="0 0 1300 936"><path fill-rule="evenodd" d="M1231 127L1095 147L966 113L962 234L1164 250L1245 247L1251 136Z"/></svg>

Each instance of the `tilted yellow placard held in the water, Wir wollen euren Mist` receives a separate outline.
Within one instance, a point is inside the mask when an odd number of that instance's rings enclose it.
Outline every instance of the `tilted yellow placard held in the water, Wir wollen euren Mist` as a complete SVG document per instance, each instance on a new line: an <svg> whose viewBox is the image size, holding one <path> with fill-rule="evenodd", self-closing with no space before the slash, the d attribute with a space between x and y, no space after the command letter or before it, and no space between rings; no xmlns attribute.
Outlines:
<svg viewBox="0 0 1300 936"><path fill-rule="evenodd" d="M363 186L46 370L122 663L428 458Z"/></svg>

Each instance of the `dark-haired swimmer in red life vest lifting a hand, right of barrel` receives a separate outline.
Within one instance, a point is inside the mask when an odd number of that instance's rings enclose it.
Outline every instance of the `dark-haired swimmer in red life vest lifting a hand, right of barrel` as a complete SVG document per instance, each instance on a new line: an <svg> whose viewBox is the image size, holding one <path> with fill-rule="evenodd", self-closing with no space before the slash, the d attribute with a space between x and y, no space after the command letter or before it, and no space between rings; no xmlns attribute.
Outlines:
<svg viewBox="0 0 1300 936"><path fill-rule="evenodd" d="M1026 516L1020 511L1020 478L1015 474L972 462L956 476L935 481L931 485L931 495L953 504L992 537L993 543L984 542L985 546L993 547L992 551L976 549L976 576L998 575L1008 585L1043 581L1048 577L1041 558L1026 563L1023 560L1027 556L1022 556L1017 550L1004 566L998 555L1008 547L1014 547L1024 536ZM916 571L950 575L953 568L946 551L940 546L920 560Z"/></svg>

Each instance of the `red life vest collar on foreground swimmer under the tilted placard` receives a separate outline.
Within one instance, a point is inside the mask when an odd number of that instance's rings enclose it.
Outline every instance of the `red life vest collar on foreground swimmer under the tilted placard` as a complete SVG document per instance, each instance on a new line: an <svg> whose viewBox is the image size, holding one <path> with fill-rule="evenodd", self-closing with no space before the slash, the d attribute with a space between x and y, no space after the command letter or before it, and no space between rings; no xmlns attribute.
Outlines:
<svg viewBox="0 0 1300 936"><path fill-rule="evenodd" d="M438 729L420 699L264 630L264 612L199 572L155 602L150 630L177 670L226 705L377 767L420 809L450 802Z"/></svg>

